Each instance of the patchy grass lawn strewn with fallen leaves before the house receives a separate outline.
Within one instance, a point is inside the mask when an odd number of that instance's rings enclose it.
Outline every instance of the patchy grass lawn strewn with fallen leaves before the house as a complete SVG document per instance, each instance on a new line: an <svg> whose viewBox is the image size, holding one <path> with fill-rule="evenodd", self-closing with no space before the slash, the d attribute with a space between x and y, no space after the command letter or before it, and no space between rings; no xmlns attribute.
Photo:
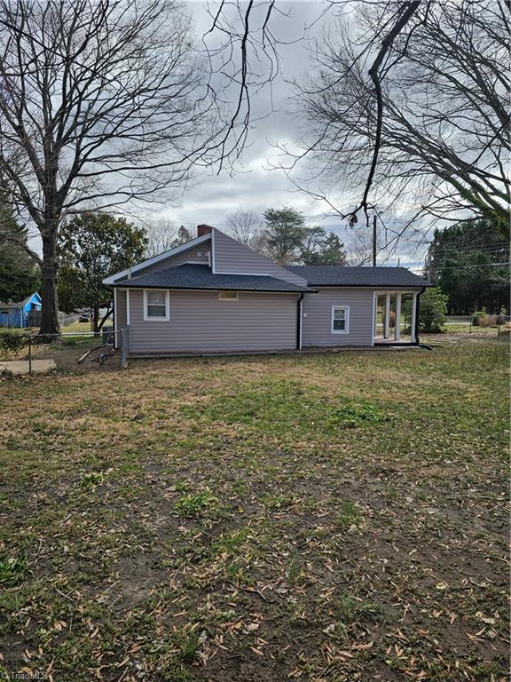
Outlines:
<svg viewBox="0 0 511 682"><path fill-rule="evenodd" d="M507 679L508 353L474 337L1 383L0 678Z"/></svg>

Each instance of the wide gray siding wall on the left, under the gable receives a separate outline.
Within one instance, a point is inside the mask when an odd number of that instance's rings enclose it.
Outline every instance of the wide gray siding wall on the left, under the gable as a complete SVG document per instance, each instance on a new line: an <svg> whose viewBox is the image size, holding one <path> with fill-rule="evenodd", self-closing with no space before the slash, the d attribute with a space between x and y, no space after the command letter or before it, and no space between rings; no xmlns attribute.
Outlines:
<svg viewBox="0 0 511 682"><path fill-rule="evenodd" d="M130 352L277 351L296 347L297 294L169 292L169 321L144 320L144 292L130 289Z"/></svg>

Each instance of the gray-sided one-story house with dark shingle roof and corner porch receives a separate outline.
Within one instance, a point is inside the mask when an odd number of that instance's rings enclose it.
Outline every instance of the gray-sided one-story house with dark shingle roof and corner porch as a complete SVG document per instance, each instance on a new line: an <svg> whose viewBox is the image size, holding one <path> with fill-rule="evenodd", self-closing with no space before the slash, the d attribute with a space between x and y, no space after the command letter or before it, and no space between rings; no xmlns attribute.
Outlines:
<svg viewBox="0 0 511 682"><path fill-rule="evenodd" d="M416 345L428 286L402 267L279 266L207 225L103 282L131 355Z"/></svg>

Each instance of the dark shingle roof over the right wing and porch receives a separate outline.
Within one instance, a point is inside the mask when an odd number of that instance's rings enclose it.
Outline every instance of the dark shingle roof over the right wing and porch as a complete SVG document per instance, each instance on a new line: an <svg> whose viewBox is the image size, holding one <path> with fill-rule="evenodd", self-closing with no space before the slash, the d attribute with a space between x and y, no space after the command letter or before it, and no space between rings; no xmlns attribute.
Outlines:
<svg viewBox="0 0 511 682"><path fill-rule="evenodd" d="M311 287L428 287L405 267L287 266Z"/></svg>

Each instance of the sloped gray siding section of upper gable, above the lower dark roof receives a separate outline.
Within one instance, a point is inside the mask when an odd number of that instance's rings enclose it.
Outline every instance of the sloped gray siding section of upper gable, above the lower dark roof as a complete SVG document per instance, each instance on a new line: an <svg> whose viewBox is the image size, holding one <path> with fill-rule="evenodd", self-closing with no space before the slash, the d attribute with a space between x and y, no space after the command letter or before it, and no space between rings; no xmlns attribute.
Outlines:
<svg viewBox="0 0 511 682"><path fill-rule="evenodd" d="M215 230L215 272L224 274L269 274L284 282L307 286L307 281L285 267L272 263L232 237Z"/></svg>

